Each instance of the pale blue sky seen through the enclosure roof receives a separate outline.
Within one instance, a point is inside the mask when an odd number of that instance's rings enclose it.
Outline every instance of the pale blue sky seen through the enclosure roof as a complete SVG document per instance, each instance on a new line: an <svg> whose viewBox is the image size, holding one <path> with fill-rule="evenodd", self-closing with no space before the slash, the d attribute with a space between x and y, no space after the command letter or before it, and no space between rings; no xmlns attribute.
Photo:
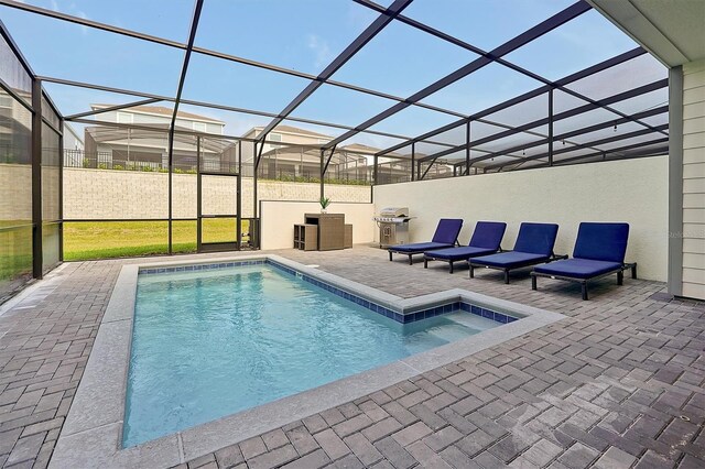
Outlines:
<svg viewBox="0 0 705 469"><path fill-rule="evenodd" d="M193 0L24 2L178 42L187 40L194 9ZM391 0L380 1L383 6L389 3ZM489 51L571 3L567 0L415 0L404 14ZM195 44L316 75L377 17L373 10L350 0L206 0ZM175 95L184 55L181 50L8 7L0 7L0 18L40 75L160 96ZM506 58L549 79L557 79L636 46L598 12L588 11ZM475 58L477 55L463 47L394 21L333 79L406 98ZM640 75L646 77L665 76L665 68L654 59L640 66L646 70ZM627 85L638 86L632 83L636 74L623 75L632 77ZM307 84L304 78L195 53L183 97L278 113ZM468 114L540 85L505 66L491 64L422 102ZM54 84L46 84L45 88L64 114L86 111L93 102L124 103L140 99ZM584 88L585 92L597 96L604 94L605 85ZM394 101L389 99L324 85L292 116L355 127L392 105ZM270 120L207 108L184 107L183 110L224 120L226 133L232 135ZM410 107L372 130L414 137L456 119ZM306 128L296 122L285 123ZM343 133L333 128L311 129L332 137ZM369 134L355 141L380 148L399 142Z"/></svg>

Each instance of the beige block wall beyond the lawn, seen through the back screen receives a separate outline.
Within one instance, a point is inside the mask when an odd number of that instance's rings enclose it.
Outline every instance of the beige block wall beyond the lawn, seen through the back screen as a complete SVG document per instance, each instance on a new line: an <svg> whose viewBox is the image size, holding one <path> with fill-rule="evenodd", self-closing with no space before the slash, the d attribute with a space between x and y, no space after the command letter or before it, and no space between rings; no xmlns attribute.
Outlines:
<svg viewBox="0 0 705 469"><path fill-rule="evenodd" d="M19 171L19 170L18 170ZM31 177L31 173L29 173ZM18 176L20 177L20 176ZM24 177L24 176L22 176ZM196 217L196 175L173 175L174 218ZM206 176L203 212L235 211L235 179ZM15 179L18 181L18 179ZM28 179L29 181L29 179ZM64 218L166 218L169 175L135 171L64 170ZM318 184L260 181L260 200L317 200ZM327 185L333 201L369 203L368 186ZM252 178L242 178L242 216L252 217Z"/></svg>

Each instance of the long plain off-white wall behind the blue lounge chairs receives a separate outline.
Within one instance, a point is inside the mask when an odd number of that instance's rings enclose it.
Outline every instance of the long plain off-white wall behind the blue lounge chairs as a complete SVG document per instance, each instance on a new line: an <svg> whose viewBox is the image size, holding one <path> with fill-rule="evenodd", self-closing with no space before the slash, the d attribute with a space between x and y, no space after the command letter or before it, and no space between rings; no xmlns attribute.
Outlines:
<svg viewBox="0 0 705 469"><path fill-rule="evenodd" d="M556 222L556 253L573 252L581 221L626 221L627 261L639 263L642 279L666 280L666 156L376 186L375 206L408 206L417 217L412 242L431 239L443 217L465 220L462 243L476 221L506 221L505 249L520 222Z"/></svg>

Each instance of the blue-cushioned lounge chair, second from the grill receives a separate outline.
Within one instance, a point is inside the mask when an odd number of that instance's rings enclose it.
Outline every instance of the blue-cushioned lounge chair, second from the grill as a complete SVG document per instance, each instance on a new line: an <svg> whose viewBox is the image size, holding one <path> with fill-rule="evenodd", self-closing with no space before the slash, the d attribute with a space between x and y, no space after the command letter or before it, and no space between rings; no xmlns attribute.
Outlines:
<svg viewBox="0 0 705 469"><path fill-rule="evenodd" d="M507 223L499 221L478 221L468 246L426 251L423 253L423 268L429 268L429 261L443 261L451 265L451 273L453 273L454 262L467 261L477 255L494 254L500 249L506 229Z"/></svg>

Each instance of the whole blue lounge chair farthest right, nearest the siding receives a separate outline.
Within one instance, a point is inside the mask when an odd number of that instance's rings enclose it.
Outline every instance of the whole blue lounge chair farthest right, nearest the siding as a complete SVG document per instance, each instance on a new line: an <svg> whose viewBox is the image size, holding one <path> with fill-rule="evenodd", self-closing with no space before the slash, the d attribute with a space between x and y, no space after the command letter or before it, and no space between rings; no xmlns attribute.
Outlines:
<svg viewBox="0 0 705 469"><path fill-rule="evenodd" d="M535 266L531 272L531 288L536 290L536 277L577 282L582 285L583 299L587 299L587 281L617 274L621 285L625 271L631 269L631 277L637 277L637 263L626 264L628 223L581 223L573 250L573 259Z"/></svg>

